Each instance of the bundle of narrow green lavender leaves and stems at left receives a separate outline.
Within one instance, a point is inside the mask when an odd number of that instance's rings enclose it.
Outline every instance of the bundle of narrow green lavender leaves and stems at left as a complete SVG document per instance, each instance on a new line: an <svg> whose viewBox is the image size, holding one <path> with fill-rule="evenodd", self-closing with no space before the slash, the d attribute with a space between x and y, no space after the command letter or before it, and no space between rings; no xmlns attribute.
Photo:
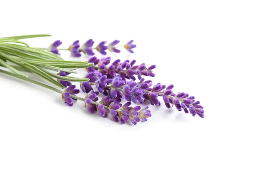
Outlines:
<svg viewBox="0 0 256 170"><path fill-rule="evenodd" d="M65 61L59 55L39 48L31 48L20 39L49 37L49 34L23 35L0 38L0 66L8 68L18 77L28 77L22 72L37 74L48 82L64 88L58 80L70 82L87 82L89 79L71 76L59 76L59 71L77 73L77 68L88 68L93 63ZM21 72L22 71L22 72ZM57 72L57 73L56 73Z"/></svg>

